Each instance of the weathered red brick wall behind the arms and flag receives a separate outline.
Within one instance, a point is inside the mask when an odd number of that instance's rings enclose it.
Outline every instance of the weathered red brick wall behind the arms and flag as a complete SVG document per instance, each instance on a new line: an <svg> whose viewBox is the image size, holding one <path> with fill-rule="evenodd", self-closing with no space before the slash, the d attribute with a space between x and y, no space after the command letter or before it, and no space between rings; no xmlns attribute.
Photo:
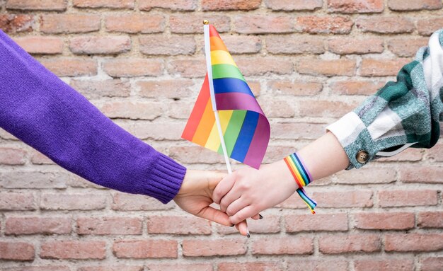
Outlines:
<svg viewBox="0 0 443 271"><path fill-rule="evenodd" d="M203 18L270 117L266 162L323 134L443 27L441 0L0 0L0 12L117 124L200 169L224 168L180 139L205 75ZM318 180L318 214L291 197L247 239L91 185L0 130L0 270L443 270L442 143Z"/></svg>

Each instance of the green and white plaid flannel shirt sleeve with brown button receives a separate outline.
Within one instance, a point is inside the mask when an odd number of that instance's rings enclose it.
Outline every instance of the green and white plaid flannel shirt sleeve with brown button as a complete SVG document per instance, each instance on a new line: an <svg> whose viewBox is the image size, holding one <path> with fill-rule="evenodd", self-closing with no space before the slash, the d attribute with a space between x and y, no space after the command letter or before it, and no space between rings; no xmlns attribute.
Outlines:
<svg viewBox="0 0 443 271"><path fill-rule="evenodd" d="M443 120L443 29L435 32L429 46L398 72L374 96L326 129L338 138L350 160L361 168L382 156L393 156L412 146L430 148L437 143ZM369 159L357 161L366 151Z"/></svg>

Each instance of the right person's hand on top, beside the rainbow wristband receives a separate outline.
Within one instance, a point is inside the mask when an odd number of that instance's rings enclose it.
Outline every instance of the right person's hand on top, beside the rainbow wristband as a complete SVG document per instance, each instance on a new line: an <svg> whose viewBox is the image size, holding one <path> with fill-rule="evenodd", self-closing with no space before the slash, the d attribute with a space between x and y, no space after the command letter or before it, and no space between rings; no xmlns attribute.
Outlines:
<svg viewBox="0 0 443 271"><path fill-rule="evenodd" d="M244 168L227 175L215 188L214 202L237 224L248 217L283 202L298 185L283 160L261 166L260 170Z"/></svg>

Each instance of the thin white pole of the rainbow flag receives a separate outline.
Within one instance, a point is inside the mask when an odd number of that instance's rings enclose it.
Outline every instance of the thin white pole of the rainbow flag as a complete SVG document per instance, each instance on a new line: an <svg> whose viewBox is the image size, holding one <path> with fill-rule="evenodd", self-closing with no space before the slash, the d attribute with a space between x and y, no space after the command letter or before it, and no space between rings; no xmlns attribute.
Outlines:
<svg viewBox="0 0 443 271"><path fill-rule="evenodd" d="M226 151L226 144L224 143L222 125L220 125L219 113L217 113L217 104L215 103L214 83L212 82L212 64L211 64L211 42L209 40L209 21L203 21L203 30L205 31L205 54L206 54L206 69L207 79L209 81L209 92L211 94L212 110L214 110L215 122L217 130L219 131L220 143L222 143L222 150L224 154L224 161L226 162L226 168L228 173L232 173L231 163L229 162L228 151Z"/></svg>

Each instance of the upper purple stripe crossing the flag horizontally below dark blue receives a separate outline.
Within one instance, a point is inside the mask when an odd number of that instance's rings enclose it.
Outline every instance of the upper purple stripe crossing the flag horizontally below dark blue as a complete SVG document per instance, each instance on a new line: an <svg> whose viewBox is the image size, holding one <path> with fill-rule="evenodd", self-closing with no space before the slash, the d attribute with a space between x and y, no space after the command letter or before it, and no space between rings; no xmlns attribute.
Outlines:
<svg viewBox="0 0 443 271"><path fill-rule="evenodd" d="M217 93L215 101L217 110L250 110L265 115L257 100L245 93Z"/></svg>

